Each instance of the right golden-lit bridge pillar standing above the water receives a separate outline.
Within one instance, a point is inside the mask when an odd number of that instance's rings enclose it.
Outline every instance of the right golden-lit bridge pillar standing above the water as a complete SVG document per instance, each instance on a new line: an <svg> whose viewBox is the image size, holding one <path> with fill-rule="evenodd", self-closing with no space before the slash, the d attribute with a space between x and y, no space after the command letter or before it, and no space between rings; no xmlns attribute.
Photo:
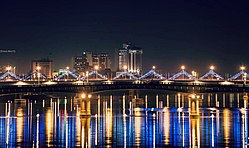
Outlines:
<svg viewBox="0 0 249 148"><path fill-rule="evenodd" d="M199 100L200 96L196 94L189 95L190 117L199 117Z"/></svg>

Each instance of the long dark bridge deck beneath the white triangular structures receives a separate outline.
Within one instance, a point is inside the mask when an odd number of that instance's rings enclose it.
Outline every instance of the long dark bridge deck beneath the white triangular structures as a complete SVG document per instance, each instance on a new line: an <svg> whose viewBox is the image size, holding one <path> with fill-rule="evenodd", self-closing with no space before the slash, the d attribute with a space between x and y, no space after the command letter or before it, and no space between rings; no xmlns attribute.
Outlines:
<svg viewBox="0 0 249 148"><path fill-rule="evenodd" d="M193 83L193 82L174 82L161 83L160 81L136 82L90 82L75 84L70 82L61 82L54 84L32 84L14 85L14 83L0 84L0 94L12 93L43 93L43 92L71 92L71 93L98 93L112 90L164 90L182 93L213 93L213 92L249 92L249 86L243 84L222 85L220 83Z"/></svg>

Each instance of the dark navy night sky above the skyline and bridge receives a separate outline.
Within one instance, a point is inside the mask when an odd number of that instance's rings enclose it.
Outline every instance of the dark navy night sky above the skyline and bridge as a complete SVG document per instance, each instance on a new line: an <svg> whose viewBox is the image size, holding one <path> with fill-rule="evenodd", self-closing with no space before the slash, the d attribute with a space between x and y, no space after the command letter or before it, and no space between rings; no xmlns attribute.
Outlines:
<svg viewBox="0 0 249 148"><path fill-rule="evenodd" d="M249 68L249 2L227 0L0 2L0 65L27 72L30 61L52 57L55 69L83 50L114 50L123 42L144 49L144 69L204 73Z"/></svg>

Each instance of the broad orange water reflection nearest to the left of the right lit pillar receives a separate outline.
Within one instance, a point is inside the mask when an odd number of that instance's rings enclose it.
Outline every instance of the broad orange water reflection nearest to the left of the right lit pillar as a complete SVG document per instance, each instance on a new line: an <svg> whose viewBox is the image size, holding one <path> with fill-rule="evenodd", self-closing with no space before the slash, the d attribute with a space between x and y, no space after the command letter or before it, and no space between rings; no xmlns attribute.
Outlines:
<svg viewBox="0 0 249 148"><path fill-rule="evenodd" d="M164 143L165 145L169 144L170 137L170 112L167 108L164 108L163 116L163 129L164 129Z"/></svg>

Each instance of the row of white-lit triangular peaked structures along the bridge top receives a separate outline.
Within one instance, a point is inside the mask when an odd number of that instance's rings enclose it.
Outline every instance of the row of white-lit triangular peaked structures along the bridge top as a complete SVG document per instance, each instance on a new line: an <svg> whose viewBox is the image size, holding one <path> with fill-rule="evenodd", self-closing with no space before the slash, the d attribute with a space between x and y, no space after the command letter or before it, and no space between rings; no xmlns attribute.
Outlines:
<svg viewBox="0 0 249 148"><path fill-rule="evenodd" d="M196 72L192 71L192 73L188 73L185 70L185 66L181 67L181 70L171 76L164 76L160 74L155 67L143 75L135 75L127 70L121 71L117 73L113 77L107 77L99 73L97 70L93 70L91 72L86 72L85 75L80 76L75 71L71 71L69 69L65 70L64 73L59 74L58 76L48 79L44 74L40 73L39 70L34 70L33 72L20 76L16 75L11 69L6 69L5 73L0 74L0 81L101 81L101 80L129 80L129 81L137 81L137 80L168 80L168 81L244 81L248 80L247 72L245 71L245 67L242 66L241 70L234 74L233 76L224 79L223 76L216 73L214 71L214 66L210 67L210 70L202 75L201 77L197 77Z"/></svg>

